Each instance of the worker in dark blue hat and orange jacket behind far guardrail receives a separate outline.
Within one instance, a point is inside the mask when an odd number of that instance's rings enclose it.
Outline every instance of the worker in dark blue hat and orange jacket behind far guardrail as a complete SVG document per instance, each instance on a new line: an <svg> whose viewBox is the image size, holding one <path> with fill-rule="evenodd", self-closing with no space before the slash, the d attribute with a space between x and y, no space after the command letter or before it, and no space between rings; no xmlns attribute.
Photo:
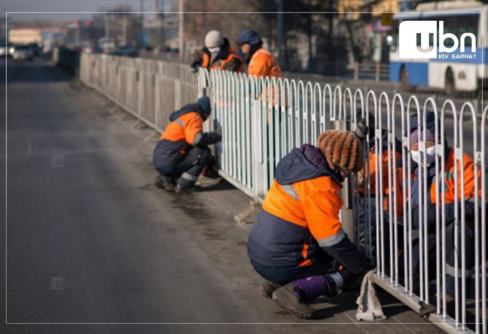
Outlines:
<svg viewBox="0 0 488 334"><path fill-rule="evenodd" d="M277 60L269 53L268 50L263 49L263 40L259 34L247 29L239 35L236 44L241 47L241 51L245 56L247 63L247 74L250 77L271 77L280 78L281 68Z"/></svg>

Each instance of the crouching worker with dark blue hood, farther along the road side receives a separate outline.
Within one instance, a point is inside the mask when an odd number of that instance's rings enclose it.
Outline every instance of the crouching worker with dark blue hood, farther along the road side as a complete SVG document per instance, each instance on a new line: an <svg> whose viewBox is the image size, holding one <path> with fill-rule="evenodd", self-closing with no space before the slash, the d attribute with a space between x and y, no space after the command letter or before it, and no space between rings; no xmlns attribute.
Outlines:
<svg viewBox="0 0 488 334"><path fill-rule="evenodd" d="M155 186L177 193L195 188L201 170L211 159L208 145L218 143L221 138L220 128L215 132L202 131L210 113L206 96L171 113L169 125L153 152L153 165L160 173Z"/></svg>

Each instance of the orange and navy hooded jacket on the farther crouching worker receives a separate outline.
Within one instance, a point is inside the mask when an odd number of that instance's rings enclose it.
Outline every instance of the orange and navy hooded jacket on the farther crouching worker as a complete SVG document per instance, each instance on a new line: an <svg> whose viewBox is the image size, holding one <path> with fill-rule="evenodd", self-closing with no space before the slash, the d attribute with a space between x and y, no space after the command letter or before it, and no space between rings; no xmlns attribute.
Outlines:
<svg viewBox="0 0 488 334"><path fill-rule="evenodd" d="M169 116L169 124L153 151L155 168L178 164L192 147L205 147L220 141L215 132L204 133L208 113L197 103L186 104Z"/></svg>

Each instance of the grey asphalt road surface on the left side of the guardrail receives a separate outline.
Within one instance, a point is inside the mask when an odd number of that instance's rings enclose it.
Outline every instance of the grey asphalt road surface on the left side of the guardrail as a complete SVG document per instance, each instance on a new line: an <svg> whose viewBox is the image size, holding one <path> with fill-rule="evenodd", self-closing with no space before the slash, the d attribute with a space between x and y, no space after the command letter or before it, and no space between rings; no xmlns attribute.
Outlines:
<svg viewBox="0 0 488 334"><path fill-rule="evenodd" d="M386 297L385 323L353 324L348 295L318 305L323 319L307 327L280 324L303 321L257 293L247 232L232 221L246 196L226 183L187 196L155 189L148 130L56 67L9 62L7 82L1 333L438 331ZM250 324L262 322L277 324Z"/></svg>

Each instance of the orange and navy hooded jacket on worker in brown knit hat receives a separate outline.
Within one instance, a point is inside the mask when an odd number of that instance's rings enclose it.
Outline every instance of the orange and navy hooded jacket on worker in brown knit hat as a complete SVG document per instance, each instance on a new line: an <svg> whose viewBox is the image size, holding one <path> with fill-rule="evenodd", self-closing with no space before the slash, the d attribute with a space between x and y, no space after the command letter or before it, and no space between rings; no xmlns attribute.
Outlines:
<svg viewBox="0 0 488 334"><path fill-rule="evenodd" d="M287 154L252 227L251 260L267 267L306 267L325 250L354 273L364 271L369 260L339 220L342 181L312 145Z"/></svg>

